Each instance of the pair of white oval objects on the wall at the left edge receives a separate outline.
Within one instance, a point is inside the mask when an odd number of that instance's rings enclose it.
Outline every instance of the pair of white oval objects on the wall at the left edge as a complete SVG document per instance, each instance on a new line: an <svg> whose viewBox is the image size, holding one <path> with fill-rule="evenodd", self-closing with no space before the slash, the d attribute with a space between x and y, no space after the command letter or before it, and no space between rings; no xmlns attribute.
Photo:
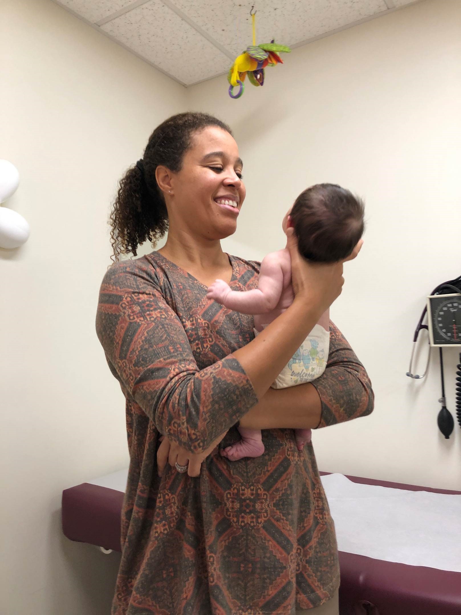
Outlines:
<svg viewBox="0 0 461 615"><path fill-rule="evenodd" d="M19 172L14 164L0 159L0 203L9 199L19 186ZM11 250L25 244L30 228L27 220L7 207L0 207L0 248Z"/></svg>

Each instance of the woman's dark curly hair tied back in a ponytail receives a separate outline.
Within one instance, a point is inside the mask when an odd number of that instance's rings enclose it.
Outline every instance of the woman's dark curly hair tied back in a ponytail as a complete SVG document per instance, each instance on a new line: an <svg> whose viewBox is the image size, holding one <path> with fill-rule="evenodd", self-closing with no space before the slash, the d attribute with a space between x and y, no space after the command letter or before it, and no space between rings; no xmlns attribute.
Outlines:
<svg viewBox="0 0 461 615"><path fill-rule="evenodd" d="M146 240L155 245L165 235L168 214L157 186L156 168L164 165L175 173L180 171L194 133L208 126L217 126L232 135L229 126L216 117L192 112L171 116L152 132L143 160L120 180L112 206L109 224L113 261L118 261L122 253L136 256L138 245Z"/></svg>

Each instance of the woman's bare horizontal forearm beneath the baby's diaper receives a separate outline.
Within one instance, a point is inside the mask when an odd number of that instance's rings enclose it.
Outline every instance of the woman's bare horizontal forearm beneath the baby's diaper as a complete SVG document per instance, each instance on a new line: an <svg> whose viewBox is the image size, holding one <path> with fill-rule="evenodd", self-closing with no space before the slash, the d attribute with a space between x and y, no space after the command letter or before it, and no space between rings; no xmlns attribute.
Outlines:
<svg viewBox="0 0 461 615"><path fill-rule="evenodd" d="M269 389L242 419L248 429L315 429L321 419L321 402L312 384Z"/></svg>

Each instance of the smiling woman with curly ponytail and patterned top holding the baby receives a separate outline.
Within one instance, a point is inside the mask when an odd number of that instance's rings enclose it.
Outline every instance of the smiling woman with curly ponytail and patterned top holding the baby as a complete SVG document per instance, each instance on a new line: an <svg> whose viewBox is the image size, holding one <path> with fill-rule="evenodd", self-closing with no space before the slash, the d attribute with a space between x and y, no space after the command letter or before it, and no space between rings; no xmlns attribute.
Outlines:
<svg viewBox="0 0 461 615"><path fill-rule="evenodd" d="M342 263L304 261L293 231L293 304L256 338L250 315L207 299L216 278L256 288L259 264L220 245L244 199L229 127L200 113L157 127L120 181L116 258L168 239L101 285L97 333L126 398L130 450L112 615L338 613L334 525L312 444L298 451L293 429L368 415L371 384L331 323L325 373L270 388L344 282ZM238 424L264 430L261 457L219 453Z"/></svg>

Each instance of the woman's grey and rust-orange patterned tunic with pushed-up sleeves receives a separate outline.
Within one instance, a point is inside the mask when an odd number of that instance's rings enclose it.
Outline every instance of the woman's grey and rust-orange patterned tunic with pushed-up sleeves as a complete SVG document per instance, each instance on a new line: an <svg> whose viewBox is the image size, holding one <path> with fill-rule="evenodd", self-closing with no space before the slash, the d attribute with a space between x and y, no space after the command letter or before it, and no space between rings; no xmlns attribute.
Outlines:
<svg viewBox="0 0 461 615"><path fill-rule="evenodd" d="M229 260L230 287L256 288L259 264ZM253 339L253 317L206 295L159 252L115 264L101 285L97 333L126 398L130 451L112 615L291 615L339 587L312 444L299 452L292 429L272 429L261 457L219 454L257 402L232 356ZM366 371L333 323L328 367L313 384L319 427L372 411ZM200 477L168 464L158 477L160 434L198 453L226 430Z"/></svg>

